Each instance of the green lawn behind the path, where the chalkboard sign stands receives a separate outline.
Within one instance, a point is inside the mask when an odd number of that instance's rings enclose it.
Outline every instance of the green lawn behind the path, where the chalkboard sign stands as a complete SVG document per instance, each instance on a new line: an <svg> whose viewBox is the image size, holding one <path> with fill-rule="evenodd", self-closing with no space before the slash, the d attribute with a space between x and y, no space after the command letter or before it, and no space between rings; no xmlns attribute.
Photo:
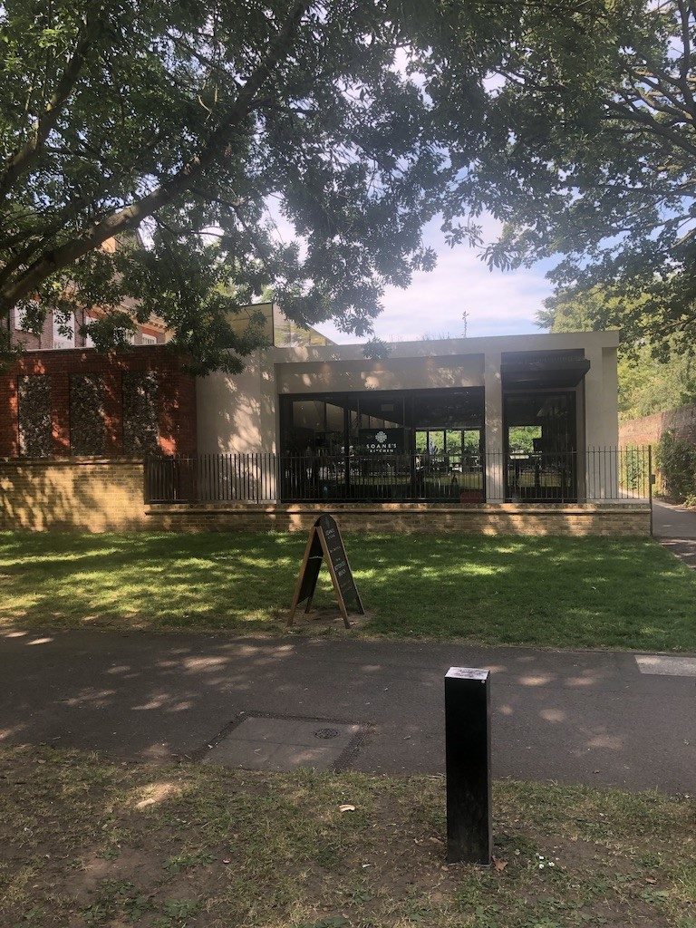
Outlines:
<svg viewBox="0 0 696 928"><path fill-rule="evenodd" d="M345 541L370 613L349 634L696 651L696 572L647 539ZM303 534L0 533L0 625L286 632L304 543ZM316 604L333 605L325 568Z"/></svg>

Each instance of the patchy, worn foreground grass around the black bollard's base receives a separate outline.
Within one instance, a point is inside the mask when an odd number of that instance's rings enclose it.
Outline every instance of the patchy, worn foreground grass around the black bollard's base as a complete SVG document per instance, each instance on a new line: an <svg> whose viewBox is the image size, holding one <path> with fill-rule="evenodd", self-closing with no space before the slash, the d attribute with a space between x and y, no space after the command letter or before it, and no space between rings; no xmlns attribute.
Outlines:
<svg viewBox="0 0 696 928"><path fill-rule="evenodd" d="M496 783L496 864L445 866L439 778L0 751L0 923L693 928L693 800ZM342 805L354 806L341 811Z"/></svg>

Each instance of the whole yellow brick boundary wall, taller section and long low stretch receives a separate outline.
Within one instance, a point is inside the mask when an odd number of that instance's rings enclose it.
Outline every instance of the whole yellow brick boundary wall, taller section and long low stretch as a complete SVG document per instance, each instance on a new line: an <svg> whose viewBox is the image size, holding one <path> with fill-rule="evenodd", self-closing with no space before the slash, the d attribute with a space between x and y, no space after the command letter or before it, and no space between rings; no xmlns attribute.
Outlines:
<svg viewBox="0 0 696 928"><path fill-rule="evenodd" d="M650 508L634 504L147 506L143 482L134 458L0 459L0 529L307 532L320 512L346 532L644 536L651 527Z"/></svg>

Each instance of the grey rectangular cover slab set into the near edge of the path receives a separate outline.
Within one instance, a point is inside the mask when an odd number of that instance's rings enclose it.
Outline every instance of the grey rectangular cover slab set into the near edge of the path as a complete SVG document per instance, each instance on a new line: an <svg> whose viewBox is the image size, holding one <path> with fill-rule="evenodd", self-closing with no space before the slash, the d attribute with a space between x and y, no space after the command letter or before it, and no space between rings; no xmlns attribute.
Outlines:
<svg viewBox="0 0 696 928"><path fill-rule="evenodd" d="M333 767L358 734L358 725L329 726L298 718L249 715L207 752L204 764L248 770Z"/></svg>

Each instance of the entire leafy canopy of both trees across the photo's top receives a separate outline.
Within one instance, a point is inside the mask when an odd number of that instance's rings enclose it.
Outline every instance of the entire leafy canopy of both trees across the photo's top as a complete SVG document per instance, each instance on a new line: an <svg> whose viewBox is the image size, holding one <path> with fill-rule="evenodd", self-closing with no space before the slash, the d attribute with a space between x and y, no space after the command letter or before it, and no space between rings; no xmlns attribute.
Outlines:
<svg viewBox="0 0 696 928"><path fill-rule="evenodd" d="M6 0L0 316L97 303L106 347L133 304L236 370L254 294L370 334L384 287L432 267L423 225L481 242L490 210L490 264L560 254L563 297L611 297L593 325L690 347L695 6Z"/></svg>

